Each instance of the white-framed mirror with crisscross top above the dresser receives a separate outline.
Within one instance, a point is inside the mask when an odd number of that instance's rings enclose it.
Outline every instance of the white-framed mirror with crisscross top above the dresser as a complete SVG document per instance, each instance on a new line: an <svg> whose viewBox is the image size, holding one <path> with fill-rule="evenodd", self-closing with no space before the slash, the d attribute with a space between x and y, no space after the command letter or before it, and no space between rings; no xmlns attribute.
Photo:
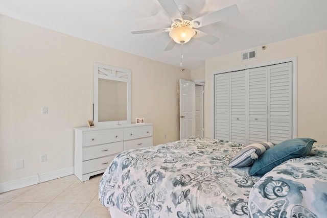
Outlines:
<svg viewBox="0 0 327 218"><path fill-rule="evenodd" d="M94 123L130 124L130 70L94 64Z"/></svg>

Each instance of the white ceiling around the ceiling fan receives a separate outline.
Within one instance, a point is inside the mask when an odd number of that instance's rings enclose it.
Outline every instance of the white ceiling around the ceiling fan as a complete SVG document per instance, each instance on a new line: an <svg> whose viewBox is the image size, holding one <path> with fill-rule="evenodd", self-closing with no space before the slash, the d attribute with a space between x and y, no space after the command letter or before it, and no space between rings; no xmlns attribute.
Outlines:
<svg viewBox="0 0 327 218"><path fill-rule="evenodd" d="M326 0L175 0L197 18L237 4L240 15L199 28L219 37L183 45L185 69L209 58L327 29ZM180 44L164 51L168 32L132 35L132 30L167 28L171 19L157 0L0 0L0 14L117 50L180 66ZM269 48L268 48L269 49ZM240 54L241 58L241 54Z"/></svg>

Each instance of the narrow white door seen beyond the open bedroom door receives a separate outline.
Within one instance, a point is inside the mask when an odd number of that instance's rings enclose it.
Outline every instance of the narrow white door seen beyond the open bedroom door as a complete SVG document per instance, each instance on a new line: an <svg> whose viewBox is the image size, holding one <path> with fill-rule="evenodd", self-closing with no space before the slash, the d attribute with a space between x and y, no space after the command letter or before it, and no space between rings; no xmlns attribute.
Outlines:
<svg viewBox="0 0 327 218"><path fill-rule="evenodd" d="M195 86L195 136L203 136L203 85Z"/></svg>

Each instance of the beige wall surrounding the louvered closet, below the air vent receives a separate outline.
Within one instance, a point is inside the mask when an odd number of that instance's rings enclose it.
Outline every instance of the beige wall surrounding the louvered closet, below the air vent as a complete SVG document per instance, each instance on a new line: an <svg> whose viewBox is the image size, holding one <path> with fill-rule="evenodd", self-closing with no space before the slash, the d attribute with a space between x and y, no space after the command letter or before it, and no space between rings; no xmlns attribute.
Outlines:
<svg viewBox="0 0 327 218"><path fill-rule="evenodd" d="M327 31L268 44L265 51L254 47L258 58L241 61L239 51L206 61L205 128L212 127L212 74L246 65L297 57L297 137L327 143ZM249 51L249 50L247 50ZM211 132L206 136L212 137Z"/></svg>

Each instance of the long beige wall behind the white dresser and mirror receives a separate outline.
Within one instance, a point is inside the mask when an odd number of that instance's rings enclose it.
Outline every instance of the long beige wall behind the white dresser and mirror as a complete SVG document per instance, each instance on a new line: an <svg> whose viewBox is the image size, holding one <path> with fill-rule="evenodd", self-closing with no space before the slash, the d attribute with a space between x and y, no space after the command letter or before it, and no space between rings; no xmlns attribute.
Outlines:
<svg viewBox="0 0 327 218"><path fill-rule="evenodd" d="M0 184L74 166L73 128L92 118L94 62L131 69L132 122L153 123L154 144L179 139L176 85L190 71L0 16Z"/></svg>

